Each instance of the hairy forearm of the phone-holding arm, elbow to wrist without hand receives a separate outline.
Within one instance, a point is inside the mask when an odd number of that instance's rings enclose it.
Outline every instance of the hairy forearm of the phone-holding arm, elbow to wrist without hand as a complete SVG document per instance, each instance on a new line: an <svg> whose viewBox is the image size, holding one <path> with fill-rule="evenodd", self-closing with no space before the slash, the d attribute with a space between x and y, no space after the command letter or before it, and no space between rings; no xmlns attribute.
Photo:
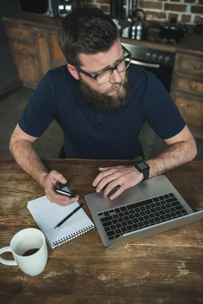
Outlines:
<svg viewBox="0 0 203 304"><path fill-rule="evenodd" d="M13 140L10 150L17 164L44 187L44 181L49 172L32 144L26 139Z"/></svg>

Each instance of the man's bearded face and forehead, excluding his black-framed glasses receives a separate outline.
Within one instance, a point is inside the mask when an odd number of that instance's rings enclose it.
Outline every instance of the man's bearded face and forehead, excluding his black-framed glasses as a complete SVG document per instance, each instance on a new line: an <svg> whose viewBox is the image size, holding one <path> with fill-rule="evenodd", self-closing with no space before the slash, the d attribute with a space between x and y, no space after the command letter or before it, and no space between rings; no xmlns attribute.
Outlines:
<svg viewBox="0 0 203 304"><path fill-rule="evenodd" d="M123 58L123 50L118 40L109 51L93 55L80 54L83 62L81 68L91 74L96 74L115 65ZM94 79L79 73L80 90L87 101L100 110L115 110L129 101L129 73L124 70L118 73L114 70L112 77L105 84L99 85Z"/></svg>

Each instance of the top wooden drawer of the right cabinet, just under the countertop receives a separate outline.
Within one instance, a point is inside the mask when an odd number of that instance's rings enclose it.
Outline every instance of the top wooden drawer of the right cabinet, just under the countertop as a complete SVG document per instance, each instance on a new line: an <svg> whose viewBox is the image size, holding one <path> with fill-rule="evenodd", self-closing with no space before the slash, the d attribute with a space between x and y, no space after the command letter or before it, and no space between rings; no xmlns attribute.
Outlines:
<svg viewBox="0 0 203 304"><path fill-rule="evenodd" d="M198 58L194 60L193 57L191 59L181 57L180 68L190 73L195 73L195 74L203 73L203 58L202 59Z"/></svg>

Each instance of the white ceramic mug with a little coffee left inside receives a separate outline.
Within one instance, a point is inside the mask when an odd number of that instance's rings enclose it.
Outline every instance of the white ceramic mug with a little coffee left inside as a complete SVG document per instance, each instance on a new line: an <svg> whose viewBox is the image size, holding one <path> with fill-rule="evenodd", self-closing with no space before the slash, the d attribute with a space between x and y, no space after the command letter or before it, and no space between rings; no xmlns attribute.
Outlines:
<svg viewBox="0 0 203 304"><path fill-rule="evenodd" d="M23 256L30 249L38 248L36 253ZM37 276L45 269L47 263L47 244L44 234L35 228L19 231L11 240L10 246L0 249L3 252L12 252L15 260L6 260L0 257L0 262L5 265L18 265L29 276Z"/></svg>

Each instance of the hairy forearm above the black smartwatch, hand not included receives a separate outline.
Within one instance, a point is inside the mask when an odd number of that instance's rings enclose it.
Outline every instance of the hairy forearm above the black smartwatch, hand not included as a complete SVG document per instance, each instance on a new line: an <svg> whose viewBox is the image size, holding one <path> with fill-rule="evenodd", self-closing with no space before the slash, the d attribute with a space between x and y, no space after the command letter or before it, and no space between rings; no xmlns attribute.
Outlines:
<svg viewBox="0 0 203 304"><path fill-rule="evenodd" d="M167 147L161 154L146 161L149 177L162 174L193 160L196 156L195 141L181 141Z"/></svg>

